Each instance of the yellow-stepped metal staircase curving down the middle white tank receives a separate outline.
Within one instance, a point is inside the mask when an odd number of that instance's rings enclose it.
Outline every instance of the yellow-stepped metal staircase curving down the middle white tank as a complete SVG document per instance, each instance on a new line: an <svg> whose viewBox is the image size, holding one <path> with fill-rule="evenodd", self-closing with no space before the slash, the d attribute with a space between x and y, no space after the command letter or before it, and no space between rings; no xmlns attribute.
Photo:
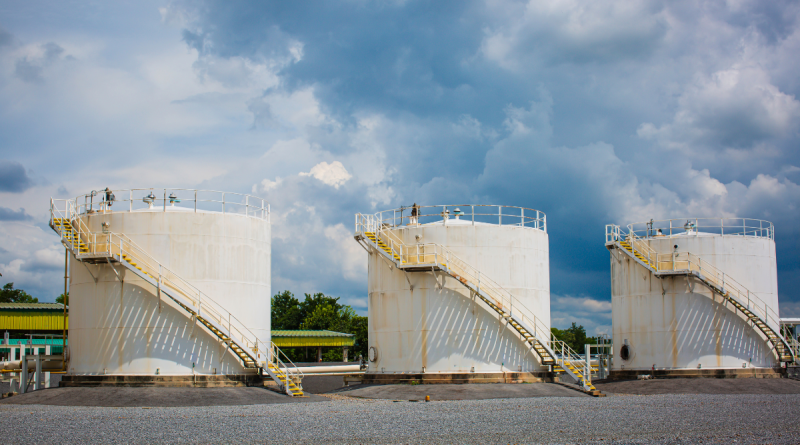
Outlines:
<svg viewBox="0 0 800 445"><path fill-rule="evenodd" d="M368 251L375 251L394 267L406 272L441 271L458 280L514 329L543 365L561 368L585 392L599 395L584 369L585 360L564 342L551 340L551 333L536 316L491 278L456 256L446 247L434 244L403 243L373 215L356 215L355 239Z"/></svg>

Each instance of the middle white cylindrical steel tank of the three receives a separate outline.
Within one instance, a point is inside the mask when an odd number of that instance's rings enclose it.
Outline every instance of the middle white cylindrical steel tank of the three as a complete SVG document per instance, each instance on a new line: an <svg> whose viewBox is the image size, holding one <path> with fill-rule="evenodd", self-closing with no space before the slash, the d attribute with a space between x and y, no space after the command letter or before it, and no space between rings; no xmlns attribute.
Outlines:
<svg viewBox="0 0 800 445"><path fill-rule="evenodd" d="M436 243L508 290L550 330L549 247L542 212L429 206L377 214L405 245ZM463 214L460 214L462 213ZM369 256L369 373L547 371L506 321L444 271L407 272Z"/></svg>

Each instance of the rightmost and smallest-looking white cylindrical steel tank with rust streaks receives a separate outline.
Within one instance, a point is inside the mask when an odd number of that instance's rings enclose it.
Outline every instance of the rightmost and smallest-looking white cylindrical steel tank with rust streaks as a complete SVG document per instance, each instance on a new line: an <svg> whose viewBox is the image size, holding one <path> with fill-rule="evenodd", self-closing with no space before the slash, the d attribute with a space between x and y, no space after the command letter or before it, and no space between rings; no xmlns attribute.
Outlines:
<svg viewBox="0 0 800 445"><path fill-rule="evenodd" d="M684 252L701 258L749 290L753 304L779 313L771 223L692 218L647 224L628 227L667 258ZM779 365L764 335L697 278L658 278L622 250L611 249L611 293L614 371Z"/></svg>

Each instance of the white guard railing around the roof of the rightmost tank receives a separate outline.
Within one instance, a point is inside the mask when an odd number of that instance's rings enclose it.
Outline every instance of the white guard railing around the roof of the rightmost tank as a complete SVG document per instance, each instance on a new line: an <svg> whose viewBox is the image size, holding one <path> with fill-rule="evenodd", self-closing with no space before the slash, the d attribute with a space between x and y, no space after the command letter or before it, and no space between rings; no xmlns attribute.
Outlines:
<svg viewBox="0 0 800 445"><path fill-rule="evenodd" d="M752 236L775 240L775 226L769 221L749 218L676 218L628 224L639 238L660 236ZM660 231L660 232L659 232Z"/></svg>

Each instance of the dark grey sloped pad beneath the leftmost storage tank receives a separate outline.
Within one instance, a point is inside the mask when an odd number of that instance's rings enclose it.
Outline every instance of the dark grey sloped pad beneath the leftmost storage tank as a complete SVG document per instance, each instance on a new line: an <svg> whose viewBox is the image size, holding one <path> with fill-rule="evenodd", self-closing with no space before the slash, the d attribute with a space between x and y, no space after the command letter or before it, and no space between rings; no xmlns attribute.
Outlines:
<svg viewBox="0 0 800 445"><path fill-rule="evenodd" d="M50 388L8 397L0 405L176 407L308 403L329 399L309 394L292 398L265 388Z"/></svg>

